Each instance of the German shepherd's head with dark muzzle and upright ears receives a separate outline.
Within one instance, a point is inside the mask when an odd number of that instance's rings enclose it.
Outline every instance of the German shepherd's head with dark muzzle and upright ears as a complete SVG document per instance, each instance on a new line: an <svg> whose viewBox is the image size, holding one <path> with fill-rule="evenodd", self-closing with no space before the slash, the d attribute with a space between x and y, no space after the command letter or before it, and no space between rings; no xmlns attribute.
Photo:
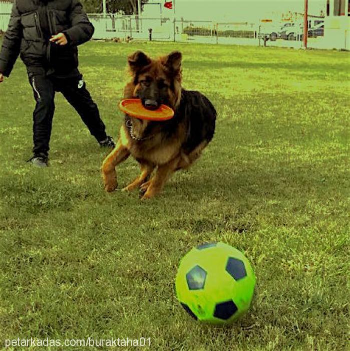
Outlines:
<svg viewBox="0 0 350 351"><path fill-rule="evenodd" d="M124 96L140 98L149 110L155 110L161 104L176 109L181 100L181 59L178 51L155 60L136 51L128 57L133 79L126 86Z"/></svg>

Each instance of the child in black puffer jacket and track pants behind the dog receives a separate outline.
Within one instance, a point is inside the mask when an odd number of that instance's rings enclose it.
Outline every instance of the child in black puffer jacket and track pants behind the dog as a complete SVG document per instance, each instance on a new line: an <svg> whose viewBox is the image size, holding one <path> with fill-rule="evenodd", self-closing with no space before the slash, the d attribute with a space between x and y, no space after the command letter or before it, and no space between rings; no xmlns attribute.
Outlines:
<svg viewBox="0 0 350 351"><path fill-rule="evenodd" d="M79 0L14 2L0 52L0 82L9 77L21 55L36 100L34 156L29 160L34 165L48 165L55 92L65 96L100 145L115 146L78 70L77 46L90 40L93 33Z"/></svg>

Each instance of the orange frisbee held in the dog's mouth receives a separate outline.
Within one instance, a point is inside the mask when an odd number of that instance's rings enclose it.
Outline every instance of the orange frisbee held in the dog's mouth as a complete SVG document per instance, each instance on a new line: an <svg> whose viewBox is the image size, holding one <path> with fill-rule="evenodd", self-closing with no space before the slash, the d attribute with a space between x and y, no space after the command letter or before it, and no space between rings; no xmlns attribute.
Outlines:
<svg viewBox="0 0 350 351"><path fill-rule="evenodd" d="M119 108L131 117L150 121L166 121L174 116L174 110L167 105L160 105L154 111L142 105L141 99L125 99L119 103Z"/></svg>

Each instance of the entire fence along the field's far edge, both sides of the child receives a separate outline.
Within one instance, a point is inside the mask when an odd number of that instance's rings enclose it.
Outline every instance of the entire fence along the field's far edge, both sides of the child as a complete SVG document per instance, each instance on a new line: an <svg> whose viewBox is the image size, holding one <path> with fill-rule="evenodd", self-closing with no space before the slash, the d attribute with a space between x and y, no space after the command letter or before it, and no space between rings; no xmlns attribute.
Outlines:
<svg viewBox="0 0 350 351"><path fill-rule="evenodd" d="M253 46L279 46L301 48L303 23L291 22L280 25L270 23L216 23L213 21L173 20L170 18L138 18L115 14L89 14L95 27L93 39L116 41L153 40L207 44L235 44ZM6 31L9 13L0 13L0 31ZM349 49L348 29L339 31L338 25L329 18L324 36L324 19L308 21L308 47ZM336 37L335 37L336 36ZM337 37L345 38L335 40ZM324 37L325 38L325 37ZM344 44L345 43L345 44Z"/></svg>

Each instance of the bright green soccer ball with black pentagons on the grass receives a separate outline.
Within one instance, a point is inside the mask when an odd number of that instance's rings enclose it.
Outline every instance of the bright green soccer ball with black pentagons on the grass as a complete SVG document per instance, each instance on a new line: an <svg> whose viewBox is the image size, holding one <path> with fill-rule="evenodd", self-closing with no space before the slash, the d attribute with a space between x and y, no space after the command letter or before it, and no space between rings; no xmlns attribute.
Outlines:
<svg viewBox="0 0 350 351"><path fill-rule="evenodd" d="M197 246L182 259L176 275L176 294L195 319L224 324L250 306L255 275L248 259L224 243Z"/></svg>

